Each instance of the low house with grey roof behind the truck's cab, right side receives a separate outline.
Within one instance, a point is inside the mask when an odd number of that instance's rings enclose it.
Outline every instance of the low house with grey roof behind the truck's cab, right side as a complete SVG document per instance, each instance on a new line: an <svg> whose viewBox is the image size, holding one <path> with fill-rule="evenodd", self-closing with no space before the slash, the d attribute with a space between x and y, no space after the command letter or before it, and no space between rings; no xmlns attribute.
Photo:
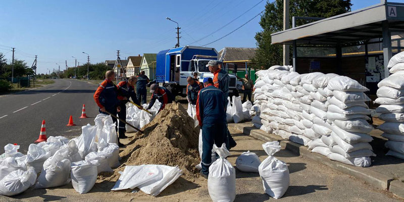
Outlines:
<svg viewBox="0 0 404 202"><path fill-rule="evenodd" d="M257 48L250 47L224 47L219 51L219 60L223 61L229 73L236 73L243 78L249 73L250 78L255 81L255 70L251 70L250 59L256 54Z"/></svg>

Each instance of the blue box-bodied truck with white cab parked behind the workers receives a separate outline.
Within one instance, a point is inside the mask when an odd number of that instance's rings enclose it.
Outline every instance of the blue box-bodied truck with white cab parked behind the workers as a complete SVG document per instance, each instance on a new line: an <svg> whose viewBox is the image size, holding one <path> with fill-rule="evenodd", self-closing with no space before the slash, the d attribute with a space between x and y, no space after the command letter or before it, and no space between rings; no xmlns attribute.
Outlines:
<svg viewBox="0 0 404 202"><path fill-rule="evenodd" d="M210 60L217 60L218 52L212 47L182 46L161 51L156 58L156 83L169 89L174 95L186 96L186 78L198 73L199 81L206 77L213 78L206 65ZM221 63L221 61L219 61ZM225 68L224 65L221 65ZM227 71L227 70L226 70ZM238 96L240 82L235 75L229 74L229 96Z"/></svg>

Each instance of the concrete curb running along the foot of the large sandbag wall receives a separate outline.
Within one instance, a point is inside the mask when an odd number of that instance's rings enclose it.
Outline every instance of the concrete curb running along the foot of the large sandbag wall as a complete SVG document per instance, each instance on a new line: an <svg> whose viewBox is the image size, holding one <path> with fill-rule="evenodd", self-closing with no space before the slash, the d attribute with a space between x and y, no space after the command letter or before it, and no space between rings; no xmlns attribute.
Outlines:
<svg viewBox="0 0 404 202"><path fill-rule="evenodd" d="M266 133L263 130L251 126L251 124L249 123L235 124L234 127L237 130L242 131L242 133L246 135L249 135L251 137L263 141L279 141L279 144L282 146L283 149L288 149L294 154L313 160L317 163L329 166L342 173L348 174L350 176L368 182L369 184L377 188L383 190L389 190L390 192L396 194L397 196L404 198L404 183L401 182L400 180L395 180L393 176L381 174L367 168L350 166L340 162L332 161L325 156L322 156L317 153L312 153L304 145L291 142L274 134Z"/></svg>

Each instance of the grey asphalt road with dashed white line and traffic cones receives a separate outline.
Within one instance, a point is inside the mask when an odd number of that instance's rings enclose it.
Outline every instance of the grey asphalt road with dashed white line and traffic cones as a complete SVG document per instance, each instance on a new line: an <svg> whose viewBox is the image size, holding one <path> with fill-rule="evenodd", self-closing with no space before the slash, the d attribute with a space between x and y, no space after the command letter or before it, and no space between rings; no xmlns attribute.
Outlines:
<svg viewBox="0 0 404 202"><path fill-rule="evenodd" d="M16 94L0 96L0 153L7 143L21 145L25 153L38 139L42 120L47 136L71 138L81 134L81 126L94 125L98 108L92 95L97 85L73 79L55 79L55 83ZM88 119L79 119L83 104ZM77 126L66 126L69 116Z"/></svg>

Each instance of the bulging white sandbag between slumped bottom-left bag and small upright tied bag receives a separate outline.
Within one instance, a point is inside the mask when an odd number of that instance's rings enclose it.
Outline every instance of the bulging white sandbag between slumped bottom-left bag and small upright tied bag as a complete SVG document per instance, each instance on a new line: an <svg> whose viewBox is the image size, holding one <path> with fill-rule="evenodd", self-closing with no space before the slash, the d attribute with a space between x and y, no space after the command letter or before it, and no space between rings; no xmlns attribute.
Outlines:
<svg viewBox="0 0 404 202"><path fill-rule="evenodd" d="M41 174L35 185L36 189L58 187L70 182L69 149L56 151L55 155L43 163Z"/></svg>

